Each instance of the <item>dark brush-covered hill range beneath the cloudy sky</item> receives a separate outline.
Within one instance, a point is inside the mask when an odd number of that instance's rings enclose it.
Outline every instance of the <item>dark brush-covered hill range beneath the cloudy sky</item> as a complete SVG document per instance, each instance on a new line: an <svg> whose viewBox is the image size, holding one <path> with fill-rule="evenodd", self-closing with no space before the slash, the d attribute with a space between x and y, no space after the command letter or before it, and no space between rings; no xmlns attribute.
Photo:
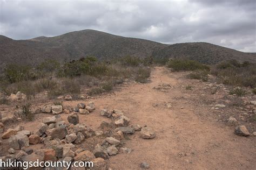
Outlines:
<svg viewBox="0 0 256 170"><path fill-rule="evenodd" d="M161 44L159 42L115 36L95 30L66 33L56 37L13 40L0 36L0 66L6 63L35 65L45 59L76 60L86 55L99 59L126 55L189 58L205 63L237 59L256 62L255 53L243 53L205 42Z"/></svg>

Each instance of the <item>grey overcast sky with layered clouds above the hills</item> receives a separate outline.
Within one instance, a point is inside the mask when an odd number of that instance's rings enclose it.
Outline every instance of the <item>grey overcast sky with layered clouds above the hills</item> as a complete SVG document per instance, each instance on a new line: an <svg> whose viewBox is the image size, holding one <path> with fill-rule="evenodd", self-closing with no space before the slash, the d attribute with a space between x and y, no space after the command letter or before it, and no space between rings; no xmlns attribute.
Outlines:
<svg viewBox="0 0 256 170"><path fill-rule="evenodd" d="M85 29L166 44L205 41L256 52L256 1L0 0L0 34L12 39Z"/></svg>

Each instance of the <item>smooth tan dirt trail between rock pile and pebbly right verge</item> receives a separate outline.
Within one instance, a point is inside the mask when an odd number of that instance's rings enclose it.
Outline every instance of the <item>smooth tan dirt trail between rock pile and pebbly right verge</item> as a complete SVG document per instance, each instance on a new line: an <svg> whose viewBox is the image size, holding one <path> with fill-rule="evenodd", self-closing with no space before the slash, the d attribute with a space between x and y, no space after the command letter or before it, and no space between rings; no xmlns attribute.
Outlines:
<svg viewBox="0 0 256 170"><path fill-rule="evenodd" d="M147 161L150 169L255 169L256 138L236 136L234 127L211 117L199 116L210 106L194 103L180 88L185 81L177 79L176 73L170 73L164 67L156 67L152 70L150 83L131 83L114 95L96 98L92 100L96 110L90 115L79 115L80 123L98 130L102 121L109 120L99 115L101 109L122 109L131 119L130 124L147 125L156 131L154 139L142 139L139 132L129 136L125 147L133 151L111 157L111 168L139 169L140 163ZM172 87L168 91L153 89L163 83ZM75 107L78 102L84 101L64 104ZM172 108L167 109L166 103L171 103ZM61 116L64 120L68 117ZM19 124L33 131L43 117L48 115L39 114L32 123Z"/></svg>

